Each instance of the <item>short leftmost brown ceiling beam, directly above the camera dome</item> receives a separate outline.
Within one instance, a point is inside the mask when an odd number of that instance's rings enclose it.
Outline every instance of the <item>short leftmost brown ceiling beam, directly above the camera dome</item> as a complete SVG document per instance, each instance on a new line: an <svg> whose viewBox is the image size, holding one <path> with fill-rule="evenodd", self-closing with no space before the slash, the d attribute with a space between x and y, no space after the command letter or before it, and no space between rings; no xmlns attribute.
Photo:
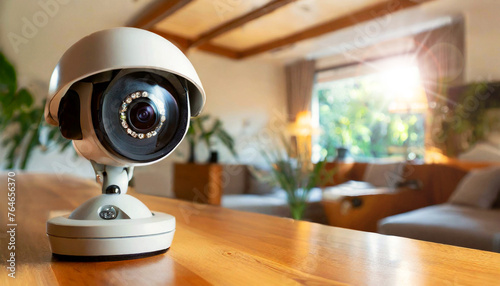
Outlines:
<svg viewBox="0 0 500 286"><path fill-rule="evenodd" d="M191 3L193 0L164 0L159 4L148 9L146 13L133 21L129 26L149 29L153 27L156 23L164 20L168 16L174 14L178 10L182 9L187 4Z"/></svg>

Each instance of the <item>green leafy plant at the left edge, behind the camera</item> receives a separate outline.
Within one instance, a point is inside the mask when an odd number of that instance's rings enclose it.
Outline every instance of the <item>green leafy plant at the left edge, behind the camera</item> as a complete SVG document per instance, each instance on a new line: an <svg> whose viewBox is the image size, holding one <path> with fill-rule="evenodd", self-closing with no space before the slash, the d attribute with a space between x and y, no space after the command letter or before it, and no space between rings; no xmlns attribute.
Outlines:
<svg viewBox="0 0 500 286"><path fill-rule="evenodd" d="M62 151L70 145L57 127L45 123L44 105L34 105L31 93L18 88L14 66L0 52L0 132L2 146L7 148L7 169L26 169L36 148L46 151L58 146Z"/></svg>

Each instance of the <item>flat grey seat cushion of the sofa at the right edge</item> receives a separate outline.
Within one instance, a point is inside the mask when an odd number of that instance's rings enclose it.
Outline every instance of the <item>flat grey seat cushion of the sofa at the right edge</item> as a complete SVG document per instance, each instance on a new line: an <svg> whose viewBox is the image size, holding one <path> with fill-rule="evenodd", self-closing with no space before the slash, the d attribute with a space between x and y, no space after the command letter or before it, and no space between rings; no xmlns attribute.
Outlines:
<svg viewBox="0 0 500 286"><path fill-rule="evenodd" d="M434 205L382 219L378 232L388 235L499 251L500 210L451 204Z"/></svg>

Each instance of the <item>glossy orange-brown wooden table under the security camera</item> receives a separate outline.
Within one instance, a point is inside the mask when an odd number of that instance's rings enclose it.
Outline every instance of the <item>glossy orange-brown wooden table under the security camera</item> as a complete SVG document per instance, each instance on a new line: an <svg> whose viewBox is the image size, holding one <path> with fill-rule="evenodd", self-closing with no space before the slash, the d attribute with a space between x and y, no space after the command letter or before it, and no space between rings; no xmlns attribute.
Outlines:
<svg viewBox="0 0 500 286"><path fill-rule="evenodd" d="M177 218L167 253L117 262L53 260L45 222L99 193L87 180L16 175L16 278L0 285L499 285L500 254L137 194ZM0 176L1 260L8 258ZM56 211L56 212L54 212ZM51 213L52 212L52 213Z"/></svg>

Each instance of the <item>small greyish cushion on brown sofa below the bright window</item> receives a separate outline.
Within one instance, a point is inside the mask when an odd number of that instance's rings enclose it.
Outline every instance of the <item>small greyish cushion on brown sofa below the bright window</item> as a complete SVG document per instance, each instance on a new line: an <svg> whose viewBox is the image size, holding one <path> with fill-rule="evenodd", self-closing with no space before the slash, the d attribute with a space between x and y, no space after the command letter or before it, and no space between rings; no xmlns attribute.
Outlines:
<svg viewBox="0 0 500 286"><path fill-rule="evenodd" d="M404 162L389 164L368 164L363 181L375 187L394 188L402 181Z"/></svg>

